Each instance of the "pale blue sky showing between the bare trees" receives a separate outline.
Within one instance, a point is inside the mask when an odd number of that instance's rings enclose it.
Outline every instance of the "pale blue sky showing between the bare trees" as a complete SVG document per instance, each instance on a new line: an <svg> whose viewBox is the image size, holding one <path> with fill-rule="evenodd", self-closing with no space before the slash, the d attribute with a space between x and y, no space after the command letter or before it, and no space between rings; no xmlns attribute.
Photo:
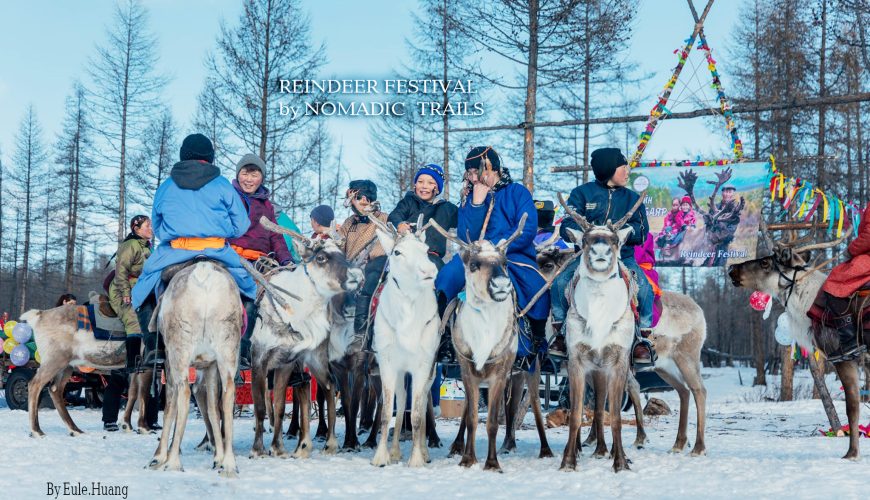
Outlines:
<svg viewBox="0 0 870 500"><path fill-rule="evenodd" d="M221 19L234 23L241 10L237 0L145 0L149 26L158 40L157 70L171 78L164 100L172 109L184 133L196 109L196 97L206 76L204 60L215 46ZM703 0L695 0L703 8ZM726 48L739 43L730 33L739 15L738 0L714 4L707 18L707 39L714 49L726 93L728 77ZM412 34L413 0L303 0L311 20L312 41L325 43L328 63L324 75L338 78L382 79L408 60L406 39ZM86 68L105 40L112 20L110 0L62 1L28 0L0 2L0 149L4 165L11 165L15 133L28 104L35 107L45 131L47 144L54 142L63 118L64 99L75 79L87 83ZM639 90L643 100L632 114L647 113L676 64L673 51L681 47L692 31L693 20L685 1L640 0L630 57L640 73L649 73ZM700 53L693 64L699 64ZM709 81L703 65L694 88ZM691 76L687 67L684 75ZM677 84L675 95L679 93ZM672 108L694 109L693 103ZM344 158L351 175L373 174L372 152L367 142L368 123L373 118L330 119L335 143L344 146ZM711 132L704 121L665 122L650 142L644 159L683 159L700 155L720 157L728 150L724 125ZM521 136L517 135L517 140ZM180 139L179 139L180 141ZM604 146L598 144L594 146ZM626 152L626 155L630 153ZM457 158L455 161L459 161ZM520 158L508 159L519 164Z"/></svg>

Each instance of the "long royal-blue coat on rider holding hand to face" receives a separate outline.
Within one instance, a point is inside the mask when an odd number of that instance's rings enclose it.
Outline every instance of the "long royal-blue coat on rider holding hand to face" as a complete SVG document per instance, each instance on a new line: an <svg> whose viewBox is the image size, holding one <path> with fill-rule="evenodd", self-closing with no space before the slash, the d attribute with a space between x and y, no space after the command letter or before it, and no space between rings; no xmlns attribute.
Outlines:
<svg viewBox="0 0 870 500"><path fill-rule="evenodd" d="M480 237L480 230L483 228L483 220L486 218L492 196L495 196L495 205L489 219L489 226L486 228L485 237L493 244L509 238L519 225L523 214L528 215L522 234L507 249L508 275L517 292L518 306L524 308L532 296L545 284L544 278L536 271L538 265L535 262L533 242L538 231L538 212L529 190L522 184L510 183L496 191L495 194L487 195L481 206L473 206L469 197L459 207L459 224L456 228L456 234L463 241L467 241L469 234L472 240L477 240ZM514 263L528 265L531 268ZM462 266L462 260L457 254L439 271L438 277L435 279L435 289L443 292L447 299L451 300L459 294L464 286L465 270ZM549 294L545 293L535 302L528 315L534 319L547 319L549 314L550 297Z"/></svg>

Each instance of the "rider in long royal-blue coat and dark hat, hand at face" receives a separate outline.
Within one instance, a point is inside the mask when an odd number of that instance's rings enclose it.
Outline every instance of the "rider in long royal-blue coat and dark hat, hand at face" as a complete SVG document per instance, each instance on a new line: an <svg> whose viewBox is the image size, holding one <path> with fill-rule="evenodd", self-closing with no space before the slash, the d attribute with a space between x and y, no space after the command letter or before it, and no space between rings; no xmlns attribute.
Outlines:
<svg viewBox="0 0 870 500"><path fill-rule="evenodd" d="M507 249L508 275L517 294L517 307L523 309L544 285L544 278L537 271L533 241L538 229L538 214L529 190L511 179L510 173L501 164L501 158L492 146L478 146L465 158L465 187L459 206L456 234L459 238L475 241L480 237L483 221L492 204L492 215L484 238L497 244L516 231L520 218L526 214L522 234ZM443 314L447 303L465 287L465 270L459 255L441 268L435 279L439 310ZM543 294L526 314L537 352L546 343L546 323L550 300ZM445 332L439 358L451 361L450 333ZM519 359L518 362L523 363Z"/></svg>

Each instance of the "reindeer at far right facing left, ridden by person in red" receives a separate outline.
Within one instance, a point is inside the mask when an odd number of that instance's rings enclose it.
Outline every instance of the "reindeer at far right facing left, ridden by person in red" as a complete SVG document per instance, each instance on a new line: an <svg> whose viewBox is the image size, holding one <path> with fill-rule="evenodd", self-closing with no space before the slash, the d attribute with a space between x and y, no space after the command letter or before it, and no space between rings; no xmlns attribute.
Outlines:
<svg viewBox="0 0 870 500"><path fill-rule="evenodd" d="M810 334L812 323L807 312L827 276L819 271L825 263L811 267L809 256L812 251L836 247L846 239L848 234L845 233L841 238L833 241L798 246L805 238L793 237L785 241L773 241L764 221L761 222L761 233L768 248L773 251L772 255L731 266L728 270L731 283L736 287L758 290L776 297L785 309L788 330L798 345L807 349L815 347L826 354L829 353L830 348L834 346L819 340L825 340L831 332L823 327L820 338L814 339ZM809 237L812 237L812 233ZM836 333L833 333L833 337L836 337ZM861 412L858 361L860 359L834 363L837 376L845 389L846 414L850 429L858 428ZM858 460L858 437L857 432L849 433L849 449L843 458Z"/></svg>

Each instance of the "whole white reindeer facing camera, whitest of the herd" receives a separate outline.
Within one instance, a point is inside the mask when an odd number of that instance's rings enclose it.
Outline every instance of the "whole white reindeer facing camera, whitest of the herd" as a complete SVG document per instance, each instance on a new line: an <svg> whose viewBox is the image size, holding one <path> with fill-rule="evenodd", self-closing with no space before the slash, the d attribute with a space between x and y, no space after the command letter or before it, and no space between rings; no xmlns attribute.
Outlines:
<svg viewBox="0 0 870 500"><path fill-rule="evenodd" d="M426 406L429 387L435 376L435 354L440 340L435 275L438 269L429 260L423 216L416 232L399 235L372 217L378 240L388 255L389 275L381 292L375 315L373 347L380 367L383 390L381 439L372 465L383 467L402 459L399 436L405 408L405 375L411 376L411 429L413 445L409 467L422 467L429 461L426 446ZM387 453L393 395L396 396L396 425L393 447Z"/></svg>

